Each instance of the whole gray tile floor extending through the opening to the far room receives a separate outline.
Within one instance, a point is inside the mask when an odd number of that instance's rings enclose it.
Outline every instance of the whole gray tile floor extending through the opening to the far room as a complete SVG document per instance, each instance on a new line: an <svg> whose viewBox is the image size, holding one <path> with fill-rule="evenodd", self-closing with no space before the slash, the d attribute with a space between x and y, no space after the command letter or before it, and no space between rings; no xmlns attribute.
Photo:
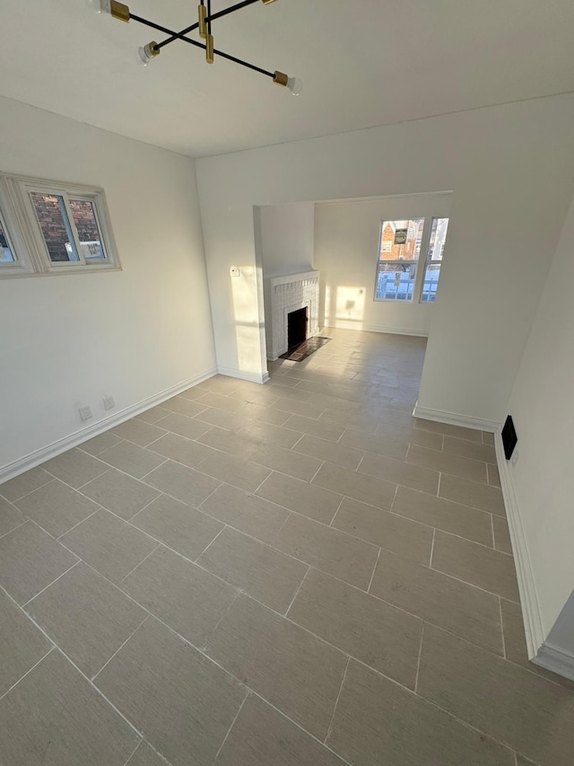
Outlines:
<svg viewBox="0 0 574 766"><path fill-rule="evenodd" d="M561 766L490 434L335 331L0 486L3 766Z"/></svg>

